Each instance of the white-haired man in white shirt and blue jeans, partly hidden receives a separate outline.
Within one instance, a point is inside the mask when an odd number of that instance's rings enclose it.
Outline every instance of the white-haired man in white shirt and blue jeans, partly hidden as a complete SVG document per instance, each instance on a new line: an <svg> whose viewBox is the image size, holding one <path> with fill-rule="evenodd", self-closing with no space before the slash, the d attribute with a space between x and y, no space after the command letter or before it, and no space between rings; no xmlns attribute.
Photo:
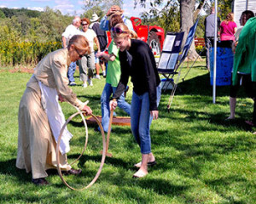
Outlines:
<svg viewBox="0 0 256 204"><path fill-rule="evenodd" d="M73 22L71 25L67 26L67 28L65 29L65 31L62 33L62 45L63 48L67 48L68 42L71 39L71 37L73 37L74 35L78 35L79 34L79 26L81 26L81 19L79 16L75 16L73 18ZM72 62L69 67L68 67L68 71L67 71L67 78L69 80L69 85L70 86L75 86L75 80L73 77L74 72L76 71L76 67L77 64L76 62Z"/></svg>

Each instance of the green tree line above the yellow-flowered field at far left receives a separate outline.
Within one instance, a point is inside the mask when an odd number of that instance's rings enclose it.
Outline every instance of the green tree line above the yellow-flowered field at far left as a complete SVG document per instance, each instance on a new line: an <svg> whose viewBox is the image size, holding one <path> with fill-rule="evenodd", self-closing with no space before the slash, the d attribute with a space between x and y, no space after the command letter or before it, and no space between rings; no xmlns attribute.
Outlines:
<svg viewBox="0 0 256 204"><path fill-rule="evenodd" d="M0 41L60 42L73 17L45 8L44 12L0 8Z"/></svg>

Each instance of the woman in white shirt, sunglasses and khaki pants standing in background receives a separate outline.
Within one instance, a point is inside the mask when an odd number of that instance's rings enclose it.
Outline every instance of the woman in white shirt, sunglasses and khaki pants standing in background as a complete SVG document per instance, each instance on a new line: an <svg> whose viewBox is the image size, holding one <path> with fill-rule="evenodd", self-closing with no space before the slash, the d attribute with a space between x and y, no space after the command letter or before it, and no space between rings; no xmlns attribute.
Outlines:
<svg viewBox="0 0 256 204"><path fill-rule="evenodd" d="M83 87L87 87L87 81L90 86L92 84L93 71L95 70L95 53L94 53L94 42L96 43L97 51L101 52L100 43L96 36L96 32L89 28L90 20L84 18L81 20L82 35L86 37L90 44L90 54L86 54L79 59L79 72L80 80L83 81Z"/></svg>

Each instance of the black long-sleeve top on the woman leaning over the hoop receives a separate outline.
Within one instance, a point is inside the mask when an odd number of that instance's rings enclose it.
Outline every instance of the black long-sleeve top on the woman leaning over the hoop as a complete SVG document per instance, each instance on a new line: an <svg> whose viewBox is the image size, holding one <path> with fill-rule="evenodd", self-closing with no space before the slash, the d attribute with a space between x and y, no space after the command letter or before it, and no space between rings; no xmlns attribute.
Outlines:
<svg viewBox="0 0 256 204"><path fill-rule="evenodd" d="M137 95L148 92L149 110L157 111L156 87L160 84L160 77L156 69L154 55L148 44L141 40L131 39L129 50L119 51L119 60L121 77L113 99L118 99L123 94L131 76L133 91Z"/></svg>

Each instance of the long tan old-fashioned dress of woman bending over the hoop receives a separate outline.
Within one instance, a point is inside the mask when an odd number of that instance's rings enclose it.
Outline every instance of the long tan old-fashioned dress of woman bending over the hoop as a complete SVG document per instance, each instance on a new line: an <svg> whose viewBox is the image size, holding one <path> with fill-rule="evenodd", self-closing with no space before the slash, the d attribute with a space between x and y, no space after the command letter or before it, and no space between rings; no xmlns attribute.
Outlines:
<svg viewBox="0 0 256 204"><path fill-rule="evenodd" d="M84 107L84 103L68 87L67 67L70 63L67 48L48 54L38 63L20 99L16 167L25 168L26 173L32 171L32 178L45 178L48 176L45 170L57 166L56 143L41 105L38 81L49 88L56 88L64 99L80 110ZM60 160L63 169L71 168L66 155L60 155Z"/></svg>

